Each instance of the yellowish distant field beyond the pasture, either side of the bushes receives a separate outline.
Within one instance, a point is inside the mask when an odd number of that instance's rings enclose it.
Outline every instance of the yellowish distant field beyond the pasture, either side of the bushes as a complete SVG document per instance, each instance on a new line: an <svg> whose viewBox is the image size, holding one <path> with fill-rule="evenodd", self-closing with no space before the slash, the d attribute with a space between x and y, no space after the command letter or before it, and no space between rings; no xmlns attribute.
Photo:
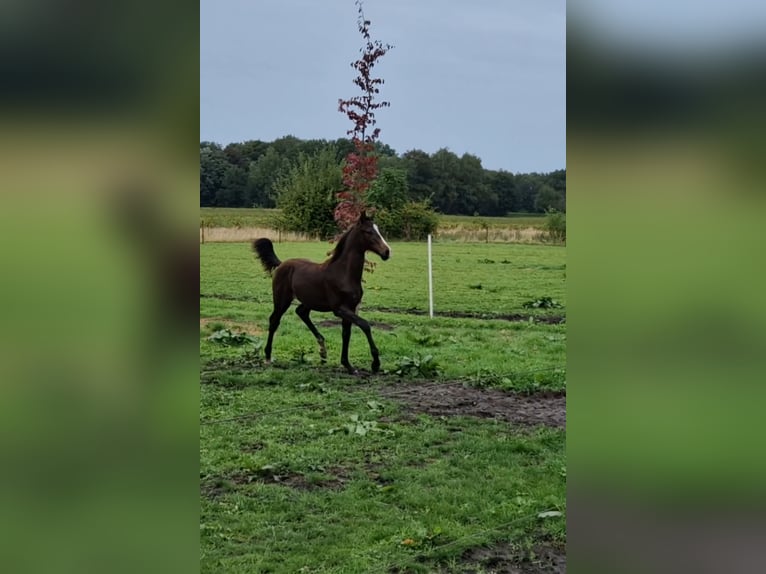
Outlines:
<svg viewBox="0 0 766 574"><path fill-rule="evenodd" d="M200 208L200 228L205 227L205 241L240 242L254 236L277 238L274 218L278 209ZM518 213L505 217L440 215L437 236L443 240L512 243L545 243L545 216ZM202 239L202 230L200 230ZM298 234L285 234L288 241L309 239Z"/></svg>

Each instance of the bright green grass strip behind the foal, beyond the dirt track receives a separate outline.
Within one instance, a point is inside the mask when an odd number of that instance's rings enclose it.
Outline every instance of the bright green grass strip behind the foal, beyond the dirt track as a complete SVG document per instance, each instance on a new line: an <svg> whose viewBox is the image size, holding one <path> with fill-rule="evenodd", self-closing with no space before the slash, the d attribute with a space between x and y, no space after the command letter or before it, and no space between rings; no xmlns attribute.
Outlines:
<svg viewBox="0 0 766 574"><path fill-rule="evenodd" d="M322 261L329 243L281 243L280 259L305 257ZM200 245L200 289L203 294L244 297L263 306L271 301L270 282L248 245ZM425 243L392 242L392 256L382 262L369 255L375 271L364 276L363 306L369 309L428 310ZM523 304L549 296L566 305L565 248L518 244L433 245L434 308L439 312L489 314L562 314L529 310ZM480 288L479 288L480 286Z"/></svg>

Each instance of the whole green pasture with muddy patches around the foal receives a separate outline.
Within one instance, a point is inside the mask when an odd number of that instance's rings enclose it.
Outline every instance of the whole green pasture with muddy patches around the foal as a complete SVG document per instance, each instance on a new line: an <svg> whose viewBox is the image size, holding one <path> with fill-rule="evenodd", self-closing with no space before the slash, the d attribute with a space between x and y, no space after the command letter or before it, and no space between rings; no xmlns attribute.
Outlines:
<svg viewBox="0 0 766 574"><path fill-rule="evenodd" d="M276 245L283 260L329 248ZM314 314L326 365L288 312L264 366L270 279L245 243L200 246L203 572L561 563L565 249L436 242L434 319L425 253L393 243L389 261L370 256L360 314L383 373L352 376L328 314ZM252 339L208 339L224 327ZM369 369L357 329L350 358Z"/></svg>

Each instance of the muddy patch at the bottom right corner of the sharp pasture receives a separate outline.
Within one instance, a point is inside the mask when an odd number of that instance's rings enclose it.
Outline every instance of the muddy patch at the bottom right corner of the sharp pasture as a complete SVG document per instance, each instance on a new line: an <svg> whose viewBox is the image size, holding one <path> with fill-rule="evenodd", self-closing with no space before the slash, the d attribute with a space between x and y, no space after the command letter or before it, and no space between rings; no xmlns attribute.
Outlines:
<svg viewBox="0 0 766 574"><path fill-rule="evenodd" d="M471 548L461 557L461 573L564 574L566 552L563 547L539 544L526 556L509 544Z"/></svg>

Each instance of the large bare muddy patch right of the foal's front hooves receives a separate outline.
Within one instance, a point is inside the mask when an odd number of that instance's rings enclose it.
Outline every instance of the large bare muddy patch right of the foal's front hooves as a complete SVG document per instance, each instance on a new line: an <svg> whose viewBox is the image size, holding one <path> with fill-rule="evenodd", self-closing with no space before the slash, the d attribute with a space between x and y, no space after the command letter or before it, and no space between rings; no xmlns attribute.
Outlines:
<svg viewBox="0 0 766 574"><path fill-rule="evenodd" d="M566 425L563 391L522 394L445 383L388 386L381 395L404 404L412 414L491 418L524 426Z"/></svg>

